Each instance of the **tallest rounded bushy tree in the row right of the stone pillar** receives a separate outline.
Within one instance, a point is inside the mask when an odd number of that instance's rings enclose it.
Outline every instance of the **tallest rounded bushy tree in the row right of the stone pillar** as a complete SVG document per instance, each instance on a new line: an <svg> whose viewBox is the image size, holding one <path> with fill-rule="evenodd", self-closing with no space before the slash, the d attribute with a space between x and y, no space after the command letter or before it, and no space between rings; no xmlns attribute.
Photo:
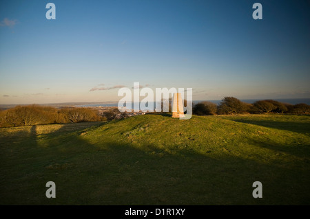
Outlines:
<svg viewBox="0 0 310 219"><path fill-rule="evenodd" d="M224 97L218 106L218 114L236 114L247 111L247 104L236 97Z"/></svg>

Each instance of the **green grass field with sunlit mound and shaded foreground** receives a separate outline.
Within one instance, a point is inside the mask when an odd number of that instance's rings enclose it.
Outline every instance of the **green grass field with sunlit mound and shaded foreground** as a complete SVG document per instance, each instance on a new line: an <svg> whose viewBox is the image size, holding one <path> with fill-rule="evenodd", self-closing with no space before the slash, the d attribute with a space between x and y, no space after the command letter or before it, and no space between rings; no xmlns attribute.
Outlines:
<svg viewBox="0 0 310 219"><path fill-rule="evenodd" d="M297 115L1 128L0 204L309 205L309 146L310 117Z"/></svg>

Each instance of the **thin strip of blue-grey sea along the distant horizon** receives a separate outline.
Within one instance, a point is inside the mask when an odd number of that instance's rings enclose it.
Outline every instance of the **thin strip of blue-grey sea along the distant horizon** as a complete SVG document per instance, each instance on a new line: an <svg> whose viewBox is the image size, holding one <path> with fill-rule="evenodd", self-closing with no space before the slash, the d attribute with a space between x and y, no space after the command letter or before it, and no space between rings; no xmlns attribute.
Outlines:
<svg viewBox="0 0 310 219"><path fill-rule="evenodd" d="M241 100L242 102L246 102L248 104L253 104L254 102L258 101L258 100L262 100L262 99L247 99L247 100ZM263 99L266 100L266 99ZM287 103L287 104L308 104L310 105L310 98L300 98L300 99L272 99L272 100L276 100L278 102L282 102L282 103ZM203 101L209 101L209 102L213 102L214 104L220 104L220 102L222 100L193 100L193 104L198 104L199 102L203 102ZM118 102L113 102L113 103L109 103L109 104L84 104L84 105L79 105L79 107L96 107L96 106L118 106ZM154 102L154 106L156 106L155 102ZM127 108L130 108L127 106Z"/></svg>

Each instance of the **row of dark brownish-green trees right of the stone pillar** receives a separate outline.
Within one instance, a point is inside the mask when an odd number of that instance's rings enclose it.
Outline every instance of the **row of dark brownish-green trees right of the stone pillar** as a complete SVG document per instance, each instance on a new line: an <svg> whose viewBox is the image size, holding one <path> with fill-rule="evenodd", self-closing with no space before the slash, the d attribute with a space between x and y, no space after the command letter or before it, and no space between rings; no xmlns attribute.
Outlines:
<svg viewBox="0 0 310 219"><path fill-rule="evenodd" d="M220 104L213 102L199 102L193 106L194 115L231 115L231 114L260 114L260 113L287 113L309 115L308 104L287 104L276 100L258 100L248 104L236 97L224 97Z"/></svg>

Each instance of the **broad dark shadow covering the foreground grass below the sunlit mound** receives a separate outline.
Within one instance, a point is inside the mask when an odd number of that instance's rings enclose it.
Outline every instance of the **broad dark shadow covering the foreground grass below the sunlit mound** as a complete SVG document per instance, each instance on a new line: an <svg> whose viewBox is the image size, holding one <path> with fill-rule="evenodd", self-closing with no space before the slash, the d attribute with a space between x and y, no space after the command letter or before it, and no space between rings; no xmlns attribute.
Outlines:
<svg viewBox="0 0 310 219"><path fill-rule="evenodd" d="M10 167L11 183L1 185L1 204L309 204L309 174L298 179L302 170L230 154L215 158L177 147L167 152L147 143L108 141L104 130L92 142L90 130L43 135L48 146L34 146L36 159L19 154L23 162ZM25 176L16 178L20 172ZM45 197L48 181L56 183L56 198ZM263 183L264 198L252 197L254 181Z"/></svg>

